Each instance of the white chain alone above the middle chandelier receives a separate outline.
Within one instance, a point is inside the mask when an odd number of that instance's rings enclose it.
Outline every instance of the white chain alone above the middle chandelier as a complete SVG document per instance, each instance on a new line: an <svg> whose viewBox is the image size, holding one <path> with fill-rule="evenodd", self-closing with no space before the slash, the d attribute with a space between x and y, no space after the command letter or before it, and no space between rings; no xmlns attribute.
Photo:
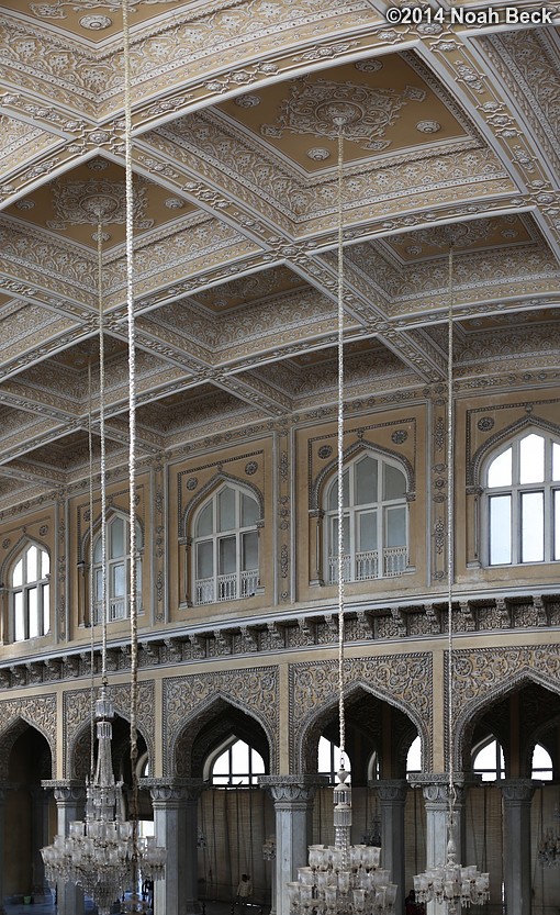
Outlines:
<svg viewBox="0 0 560 915"><path fill-rule="evenodd" d="M343 179L344 179L344 134L338 126L338 717L340 728L340 769L344 769L346 721L344 713L344 252L343 252Z"/></svg>

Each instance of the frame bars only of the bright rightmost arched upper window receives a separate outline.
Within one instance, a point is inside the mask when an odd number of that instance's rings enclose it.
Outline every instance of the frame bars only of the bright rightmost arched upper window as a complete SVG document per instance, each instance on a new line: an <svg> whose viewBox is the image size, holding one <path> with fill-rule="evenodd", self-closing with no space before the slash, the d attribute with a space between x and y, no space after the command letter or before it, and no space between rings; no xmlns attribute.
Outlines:
<svg viewBox="0 0 560 915"><path fill-rule="evenodd" d="M542 438L545 442L545 457L544 457L544 480L542 482L526 482L522 483L522 442L531 435ZM549 562L560 561L560 542L559 556L556 557L556 542L559 539L560 525L560 479L553 479L553 446L560 447L560 439L552 433L546 432L539 427L525 428L523 432L502 443L499 447L493 449L485 458L482 466L482 547L484 566L486 568L512 568L517 566L541 566ZM495 460L505 455L512 449L512 482L504 486L489 486L489 475L491 467ZM542 558L541 559L524 559L524 542L528 542L530 537L524 537L523 528L523 502L524 496L531 494L542 494ZM493 500L508 496L509 511L509 560L508 561L492 561L492 502ZM558 509L558 512L557 512ZM558 517L556 517L558 514Z"/></svg>

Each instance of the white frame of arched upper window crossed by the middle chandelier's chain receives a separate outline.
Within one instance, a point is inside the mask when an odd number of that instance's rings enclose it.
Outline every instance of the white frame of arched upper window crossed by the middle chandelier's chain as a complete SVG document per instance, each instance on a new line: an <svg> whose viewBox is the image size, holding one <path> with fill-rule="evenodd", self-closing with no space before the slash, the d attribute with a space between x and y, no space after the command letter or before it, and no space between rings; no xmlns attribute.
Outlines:
<svg viewBox="0 0 560 915"><path fill-rule="evenodd" d="M378 462L377 471L377 501L358 502L357 494L357 467L367 458ZM385 479L385 467L396 469L404 479L404 494L402 496L383 499L383 487ZM370 581L381 578L397 578L404 574L410 565L410 512L406 499L407 475L406 470L396 458L391 458L382 451L368 449L354 457L345 464L343 473L348 473L348 504L344 509L344 518L348 521L348 544L345 544L345 580L348 582ZM329 509L331 493L337 488L337 470L327 480L324 488L324 569L325 579L328 584L336 584L338 579L338 543L336 539L338 509ZM404 515L404 544L395 547L388 546L388 522L389 514L394 510L402 510ZM360 518L367 514L374 514L376 542L377 546L370 550L358 549L360 543ZM391 550L395 550L395 569L389 569ZM402 550L401 554L397 550ZM371 557L368 558L368 554ZM377 555L377 556L374 556ZM358 559L359 556L363 558ZM358 561L363 563L366 572L358 573ZM369 572L368 572L369 568Z"/></svg>

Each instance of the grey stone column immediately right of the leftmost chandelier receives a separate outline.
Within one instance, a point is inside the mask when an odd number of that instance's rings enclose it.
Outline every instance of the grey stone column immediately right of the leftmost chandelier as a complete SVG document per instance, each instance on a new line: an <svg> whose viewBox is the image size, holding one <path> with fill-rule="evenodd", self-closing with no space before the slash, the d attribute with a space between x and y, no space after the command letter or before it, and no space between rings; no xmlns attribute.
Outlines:
<svg viewBox="0 0 560 915"><path fill-rule="evenodd" d="M154 884L154 915L200 912L198 802L202 779L141 779L149 788L157 845L167 849L165 878Z"/></svg>

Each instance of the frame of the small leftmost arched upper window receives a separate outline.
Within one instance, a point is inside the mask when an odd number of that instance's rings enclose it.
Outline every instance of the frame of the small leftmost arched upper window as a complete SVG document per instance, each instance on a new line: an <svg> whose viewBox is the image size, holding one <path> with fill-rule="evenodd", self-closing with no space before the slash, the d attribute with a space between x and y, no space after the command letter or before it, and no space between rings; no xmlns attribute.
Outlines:
<svg viewBox="0 0 560 915"><path fill-rule="evenodd" d="M37 550L37 577L27 580L27 557L32 549ZM43 576L43 556L48 560L48 572ZM22 562L21 584L14 584L13 577L16 567ZM35 609L36 632L31 634L30 625L30 595L36 591L37 604ZM33 540L27 542L13 558L9 572L10 593L10 640L13 643L29 641L32 638L44 638L51 632L51 555L46 547ZM24 635L18 637L19 624L16 622L18 595L22 595L22 624ZM46 601L45 601L46 594Z"/></svg>

